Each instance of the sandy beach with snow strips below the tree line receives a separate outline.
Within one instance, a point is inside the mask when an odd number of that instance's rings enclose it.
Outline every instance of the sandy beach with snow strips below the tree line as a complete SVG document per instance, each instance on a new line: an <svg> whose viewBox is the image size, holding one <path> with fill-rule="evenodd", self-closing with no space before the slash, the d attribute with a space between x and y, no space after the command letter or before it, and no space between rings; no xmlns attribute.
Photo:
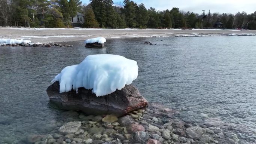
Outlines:
<svg viewBox="0 0 256 144"><path fill-rule="evenodd" d="M0 38L25 39L32 42L72 42L94 37L121 39L132 37L179 37L179 36L256 36L256 30L222 29L64 29L0 27Z"/></svg>

